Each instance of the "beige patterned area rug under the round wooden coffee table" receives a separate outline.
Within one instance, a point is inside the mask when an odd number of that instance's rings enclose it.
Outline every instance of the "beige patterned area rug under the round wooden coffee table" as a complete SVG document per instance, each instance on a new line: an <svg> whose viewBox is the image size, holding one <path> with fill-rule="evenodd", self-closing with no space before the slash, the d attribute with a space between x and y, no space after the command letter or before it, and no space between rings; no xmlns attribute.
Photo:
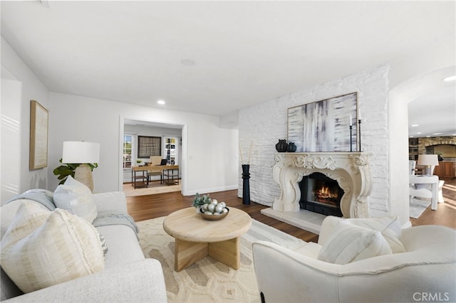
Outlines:
<svg viewBox="0 0 456 303"><path fill-rule="evenodd" d="M268 240L296 249L305 242L252 219L241 237L241 267L233 270L212 257L204 257L181 272L174 271L175 240L162 228L165 217L138 222L142 252L160 260L168 302L261 302L252 259L252 243Z"/></svg>

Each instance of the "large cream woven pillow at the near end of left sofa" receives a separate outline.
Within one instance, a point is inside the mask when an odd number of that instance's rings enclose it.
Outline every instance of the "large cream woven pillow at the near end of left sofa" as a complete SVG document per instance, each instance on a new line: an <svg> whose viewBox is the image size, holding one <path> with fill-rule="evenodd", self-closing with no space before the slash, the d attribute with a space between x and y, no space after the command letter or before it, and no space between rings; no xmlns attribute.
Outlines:
<svg viewBox="0 0 456 303"><path fill-rule="evenodd" d="M93 225L59 208L31 216L27 207L19 208L1 240L1 267L23 292L104 269Z"/></svg>

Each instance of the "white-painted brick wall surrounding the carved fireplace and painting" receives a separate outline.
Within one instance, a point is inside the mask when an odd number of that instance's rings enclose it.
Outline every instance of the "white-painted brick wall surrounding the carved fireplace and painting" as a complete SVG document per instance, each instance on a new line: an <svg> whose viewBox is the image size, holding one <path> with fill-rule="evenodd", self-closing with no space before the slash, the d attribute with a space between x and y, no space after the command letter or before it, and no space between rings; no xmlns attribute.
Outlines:
<svg viewBox="0 0 456 303"><path fill-rule="evenodd" d="M254 142L250 163L252 201L271 206L274 198L279 196L279 186L272 178L272 166L275 144L279 139L286 139L287 109L358 92L358 109L363 120L362 149L374 154L371 161L373 191L369 200L369 213L374 217L387 216L390 213L388 71L389 66L367 70L240 110L239 140L244 147L244 155L248 154L250 142ZM238 195L242 196L242 179L239 179ZM408 199L403 203L408 203Z"/></svg>

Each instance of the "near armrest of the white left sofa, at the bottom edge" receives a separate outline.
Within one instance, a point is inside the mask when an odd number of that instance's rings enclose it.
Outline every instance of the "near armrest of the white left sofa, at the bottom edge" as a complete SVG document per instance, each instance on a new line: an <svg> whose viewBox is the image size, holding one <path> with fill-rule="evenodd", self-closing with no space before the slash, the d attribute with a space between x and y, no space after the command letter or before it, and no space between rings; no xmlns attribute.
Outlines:
<svg viewBox="0 0 456 303"><path fill-rule="evenodd" d="M145 259L4 302L167 302L167 294L160 262Z"/></svg>

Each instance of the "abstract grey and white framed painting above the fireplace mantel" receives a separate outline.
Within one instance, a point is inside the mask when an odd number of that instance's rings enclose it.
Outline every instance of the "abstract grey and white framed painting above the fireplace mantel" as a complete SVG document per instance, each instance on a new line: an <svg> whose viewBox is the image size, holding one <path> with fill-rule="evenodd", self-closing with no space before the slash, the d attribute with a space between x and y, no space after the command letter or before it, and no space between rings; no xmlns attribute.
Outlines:
<svg viewBox="0 0 456 303"><path fill-rule="evenodd" d="M357 112L357 92L290 107L288 142L301 152L356 151Z"/></svg>

